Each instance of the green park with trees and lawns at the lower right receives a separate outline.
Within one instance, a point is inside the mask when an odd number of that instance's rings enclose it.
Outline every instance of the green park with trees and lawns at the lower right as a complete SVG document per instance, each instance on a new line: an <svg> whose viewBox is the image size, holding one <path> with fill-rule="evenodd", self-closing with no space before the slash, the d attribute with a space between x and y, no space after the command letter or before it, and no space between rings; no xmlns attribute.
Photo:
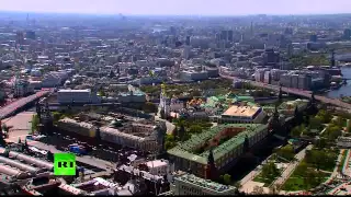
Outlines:
<svg viewBox="0 0 351 197"><path fill-rule="evenodd" d="M317 130L314 148L306 150L304 160L297 165L293 174L282 186L283 190L308 190L324 183L337 166L339 150L333 149L336 139L344 130L346 116L339 116L332 111L320 109L315 116L309 117L306 125L292 129L291 136L298 138L309 136L312 130ZM305 121L306 123L306 121ZM346 152L346 151L344 151ZM342 157L343 161L346 155Z"/></svg>

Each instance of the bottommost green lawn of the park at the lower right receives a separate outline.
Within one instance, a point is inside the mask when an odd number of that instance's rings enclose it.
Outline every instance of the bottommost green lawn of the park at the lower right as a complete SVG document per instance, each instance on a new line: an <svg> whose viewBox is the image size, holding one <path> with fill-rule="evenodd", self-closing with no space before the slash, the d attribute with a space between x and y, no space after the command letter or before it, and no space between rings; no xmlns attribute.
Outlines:
<svg viewBox="0 0 351 197"><path fill-rule="evenodd" d="M325 172L318 172L324 175L324 178L320 179L320 182L316 182L313 185L306 185L304 183L304 177L303 176L297 176L294 173L291 175L291 177L285 182L283 185L283 190L288 190L288 192L295 192L295 190L308 190L312 188L317 187L320 185L322 182L327 181L328 177L330 176L330 173L325 173Z"/></svg>

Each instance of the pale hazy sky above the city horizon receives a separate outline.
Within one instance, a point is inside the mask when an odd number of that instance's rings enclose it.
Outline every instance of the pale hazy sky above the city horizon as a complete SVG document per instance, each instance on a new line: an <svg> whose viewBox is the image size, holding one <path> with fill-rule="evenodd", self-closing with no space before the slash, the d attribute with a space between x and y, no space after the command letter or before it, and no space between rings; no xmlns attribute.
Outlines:
<svg viewBox="0 0 351 197"><path fill-rule="evenodd" d="M351 0L0 0L2 11L242 15L351 13Z"/></svg>

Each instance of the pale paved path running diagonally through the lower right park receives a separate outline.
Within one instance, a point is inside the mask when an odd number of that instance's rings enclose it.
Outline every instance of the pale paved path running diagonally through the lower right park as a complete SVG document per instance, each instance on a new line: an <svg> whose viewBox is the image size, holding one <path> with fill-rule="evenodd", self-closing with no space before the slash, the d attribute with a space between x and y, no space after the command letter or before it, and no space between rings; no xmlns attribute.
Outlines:
<svg viewBox="0 0 351 197"><path fill-rule="evenodd" d="M307 150L312 150L313 148L313 144L309 144L307 146L305 149L303 149L302 151L299 151L296 155L295 155L295 159L297 161L292 161L287 166L286 169L284 170L284 172L282 173L282 175L276 178L274 182L273 182L273 185L283 185L286 179L292 175L292 173L294 172L294 170L296 169L296 166L301 163L301 161L303 161L303 159L305 158L306 155L306 151Z"/></svg>

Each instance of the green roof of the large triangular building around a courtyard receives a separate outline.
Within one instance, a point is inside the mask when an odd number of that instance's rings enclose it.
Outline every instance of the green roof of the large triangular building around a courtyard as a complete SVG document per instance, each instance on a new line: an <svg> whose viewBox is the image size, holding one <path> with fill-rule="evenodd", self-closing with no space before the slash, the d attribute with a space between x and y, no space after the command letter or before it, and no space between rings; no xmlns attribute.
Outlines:
<svg viewBox="0 0 351 197"><path fill-rule="evenodd" d="M195 149L203 146L206 141L213 139L218 132L223 131L225 128L238 128L238 127L245 127L246 130L242 132L239 132L231 139L225 141L224 143L216 147L214 152L214 159L218 160L228 152L230 152L233 149L237 148L241 143L244 143L245 137L253 136L254 134L261 131L262 129L267 128L265 125L262 124L225 124L225 125L218 125L217 127L213 127L207 131L204 131L200 135L193 135L189 140L179 143L173 149L169 150L168 153L171 155L176 155L179 158L183 158L186 160L191 160L197 163L206 164L207 163L207 155L208 151L205 151L201 153L200 155L196 155L192 153Z"/></svg>

